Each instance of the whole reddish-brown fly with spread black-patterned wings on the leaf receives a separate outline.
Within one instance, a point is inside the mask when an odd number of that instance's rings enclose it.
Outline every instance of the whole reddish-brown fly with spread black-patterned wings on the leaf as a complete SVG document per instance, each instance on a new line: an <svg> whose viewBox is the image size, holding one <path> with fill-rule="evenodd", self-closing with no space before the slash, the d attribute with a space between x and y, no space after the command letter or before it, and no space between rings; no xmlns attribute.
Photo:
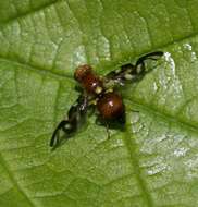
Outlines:
<svg viewBox="0 0 198 207"><path fill-rule="evenodd" d="M123 86L126 82L139 81L148 72L147 60L158 60L163 56L162 51L154 51L140 57L135 64L128 63L120 70L108 73L104 77L98 76L90 65L79 65L74 73L82 92L76 102L70 108L67 118L63 119L54 130L50 146L54 147L60 143L59 132L63 131L70 135L77 131L79 122L84 121L89 106L96 106L101 121L108 123L116 121L125 123L125 106L116 86Z"/></svg>

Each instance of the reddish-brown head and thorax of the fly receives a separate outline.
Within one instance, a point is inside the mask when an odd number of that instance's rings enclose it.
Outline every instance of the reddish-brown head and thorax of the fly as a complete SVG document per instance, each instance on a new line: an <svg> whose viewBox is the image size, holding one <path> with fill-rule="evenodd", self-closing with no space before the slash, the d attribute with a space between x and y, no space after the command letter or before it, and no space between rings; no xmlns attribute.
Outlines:
<svg viewBox="0 0 198 207"><path fill-rule="evenodd" d="M85 64L76 69L74 77L78 81L88 94L100 94L103 90L102 81L92 72L92 69Z"/></svg>

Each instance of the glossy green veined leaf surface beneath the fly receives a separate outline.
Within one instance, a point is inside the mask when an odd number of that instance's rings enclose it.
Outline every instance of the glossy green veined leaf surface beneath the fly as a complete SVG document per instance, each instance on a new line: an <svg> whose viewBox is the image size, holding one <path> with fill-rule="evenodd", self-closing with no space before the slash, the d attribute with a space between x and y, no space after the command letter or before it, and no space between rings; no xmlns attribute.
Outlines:
<svg viewBox="0 0 198 207"><path fill-rule="evenodd" d="M196 0L1 0L0 206L198 206L197 11ZM123 132L108 139L92 114L50 150L77 65L106 74L156 50L164 58L123 89Z"/></svg>

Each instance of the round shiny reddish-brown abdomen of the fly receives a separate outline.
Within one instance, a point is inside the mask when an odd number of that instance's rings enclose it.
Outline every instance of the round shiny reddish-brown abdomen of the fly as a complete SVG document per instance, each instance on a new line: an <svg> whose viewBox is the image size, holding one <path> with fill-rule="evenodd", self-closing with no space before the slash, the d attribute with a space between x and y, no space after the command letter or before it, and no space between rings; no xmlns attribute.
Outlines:
<svg viewBox="0 0 198 207"><path fill-rule="evenodd" d="M104 120L122 119L125 112L122 97L115 93L103 94L97 108Z"/></svg>

